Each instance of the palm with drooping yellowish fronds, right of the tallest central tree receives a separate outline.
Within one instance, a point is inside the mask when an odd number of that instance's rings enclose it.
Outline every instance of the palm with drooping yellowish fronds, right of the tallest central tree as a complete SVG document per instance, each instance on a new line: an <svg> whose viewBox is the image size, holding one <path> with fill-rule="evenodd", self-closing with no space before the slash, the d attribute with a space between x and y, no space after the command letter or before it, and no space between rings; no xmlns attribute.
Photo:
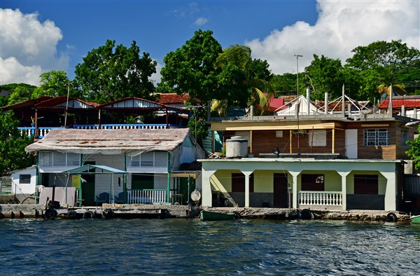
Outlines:
<svg viewBox="0 0 420 276"><path fill-rule="evenodd" d="M221 67L219 81L225 89L225 99L214 99L211 110L223 115L230 105L260 106L263 113L274 95L269 84L272 74L268 71L268 64L262 60L252 60L251 48L248 46L232 45L218 55L216 66Z"/></svg>

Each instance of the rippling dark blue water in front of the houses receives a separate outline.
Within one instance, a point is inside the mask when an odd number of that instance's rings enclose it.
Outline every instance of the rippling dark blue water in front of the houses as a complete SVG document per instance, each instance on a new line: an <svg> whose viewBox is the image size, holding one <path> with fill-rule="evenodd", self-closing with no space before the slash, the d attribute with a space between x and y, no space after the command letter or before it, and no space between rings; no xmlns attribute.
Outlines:
<svg viewBox="0 0 420 276"><path fill-rule="evenodd" d="M420 226L0 220L1 275L420 275Z"/></svg>

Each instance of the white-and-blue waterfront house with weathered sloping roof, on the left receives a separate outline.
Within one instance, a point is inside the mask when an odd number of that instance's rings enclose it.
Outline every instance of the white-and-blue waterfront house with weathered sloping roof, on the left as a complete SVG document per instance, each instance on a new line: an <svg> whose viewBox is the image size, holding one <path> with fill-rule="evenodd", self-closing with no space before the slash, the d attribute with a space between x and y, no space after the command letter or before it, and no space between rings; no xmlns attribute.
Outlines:
<svg viewBox="0 0 420 276"><path fill-rule="evenodd" d="M72 186L84 206L186 201L200 185L200 170L188 164L204 158L188 128L53 129L25 150L36 153L38 186Z"/></svg>

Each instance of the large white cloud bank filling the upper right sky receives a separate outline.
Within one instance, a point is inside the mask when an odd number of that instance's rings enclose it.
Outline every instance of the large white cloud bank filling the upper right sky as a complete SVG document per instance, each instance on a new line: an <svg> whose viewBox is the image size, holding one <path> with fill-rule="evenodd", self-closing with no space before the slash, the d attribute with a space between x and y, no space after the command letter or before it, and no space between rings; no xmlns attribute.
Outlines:
<svg viewBox="0 0 420 276"><path fill-rule="evenodd" d="M313 60L313 54L340 59L344 64L351 50L374 41L401 39L420 48L419 1L321 1L318 21L275 29L264 39L246 41L254 58L267 60L274 74L295 73Z"/></svg>

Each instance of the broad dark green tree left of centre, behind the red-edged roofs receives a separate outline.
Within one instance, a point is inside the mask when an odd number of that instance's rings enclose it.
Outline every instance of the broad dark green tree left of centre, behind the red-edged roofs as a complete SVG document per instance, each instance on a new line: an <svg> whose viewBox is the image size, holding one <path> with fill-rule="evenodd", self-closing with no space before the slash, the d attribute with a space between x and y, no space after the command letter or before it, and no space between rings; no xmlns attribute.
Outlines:
<svg viewBox="0 0 420 276"><path fill-rule="evenodd" d="M156 72L156 65L148 53L140 56L136 41L127 48L107 40L76 65L75 80L83 95L93 102L133 96L152 99L155 87L150 77Z"/></svg>

